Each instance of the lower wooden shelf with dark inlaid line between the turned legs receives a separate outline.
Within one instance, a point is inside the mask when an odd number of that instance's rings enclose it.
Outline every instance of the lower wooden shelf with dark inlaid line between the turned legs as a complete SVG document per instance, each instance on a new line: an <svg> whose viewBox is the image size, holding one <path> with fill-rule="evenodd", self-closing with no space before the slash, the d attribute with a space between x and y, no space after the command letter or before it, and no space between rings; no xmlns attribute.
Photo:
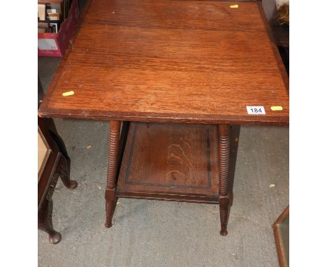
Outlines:
<svg viewBox="0 0 327 267"><path fill-rule="evenodd" d="M131 122L116 195L218 203L217 126Z"/></svg>

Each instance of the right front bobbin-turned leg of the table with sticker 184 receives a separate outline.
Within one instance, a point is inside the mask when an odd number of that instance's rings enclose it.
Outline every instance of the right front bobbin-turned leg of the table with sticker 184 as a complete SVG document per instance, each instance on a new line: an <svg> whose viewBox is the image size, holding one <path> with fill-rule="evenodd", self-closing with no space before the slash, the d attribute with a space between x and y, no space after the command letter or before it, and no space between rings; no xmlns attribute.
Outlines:
<svg viewBox="0 0 327 267"><path fill-rule="evenodd" d="M231 196L229 194L229 126L219 124L219 210L221 236L227 235L228 212L231 204Z"/></svg>

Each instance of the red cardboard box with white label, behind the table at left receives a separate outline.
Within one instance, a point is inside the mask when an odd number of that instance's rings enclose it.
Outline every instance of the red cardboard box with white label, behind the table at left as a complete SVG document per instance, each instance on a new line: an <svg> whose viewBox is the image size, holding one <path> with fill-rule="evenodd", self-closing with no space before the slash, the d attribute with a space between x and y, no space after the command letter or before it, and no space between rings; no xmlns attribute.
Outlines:
<svg viewBox="0 0 327 267"><path fill-rule="evenodd" d="M38 33L38 56L41 57L62 57L68 47L68 41L73 35L78 22L78 0L73 0L69 15L61 23L57 34Z"/></svg>

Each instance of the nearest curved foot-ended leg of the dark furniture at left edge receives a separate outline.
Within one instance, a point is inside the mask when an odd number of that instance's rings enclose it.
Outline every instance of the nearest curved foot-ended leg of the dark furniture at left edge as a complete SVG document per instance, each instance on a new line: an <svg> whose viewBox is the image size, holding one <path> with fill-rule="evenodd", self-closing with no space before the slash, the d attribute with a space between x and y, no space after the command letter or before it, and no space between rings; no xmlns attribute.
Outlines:
<svg viewBox="0 0 327 267"><path fill-rule="evenodd" d="M49 241L52 244L57 244L61 240L61 235L54 231L52 226L52 200L45 199L42 207L38 212L38 229L49 234Z"/></svg>

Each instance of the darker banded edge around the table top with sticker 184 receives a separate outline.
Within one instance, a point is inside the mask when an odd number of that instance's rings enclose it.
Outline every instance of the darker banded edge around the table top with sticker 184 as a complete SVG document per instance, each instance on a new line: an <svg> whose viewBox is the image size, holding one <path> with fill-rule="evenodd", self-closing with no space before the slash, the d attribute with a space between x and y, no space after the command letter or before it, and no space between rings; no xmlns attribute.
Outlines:
<svg viewBox="0 0 327 267"><path fill-rule="evenodd" d="M226 1L226 0L225 0ZM227 0L228 1L228 0ZM57 71L54 73L52 80L50 82L50 86L48 88L48 92L46 92L43 102L41 103L40 108L38 109L38 116L40 117L57 117L57 118L65 118L65 119L80 119L80 120L122 120L122 121L136 121L136 122L179 122L179 123L201 123L201 124L242 124L242 125L279 125L286 126L289 125L289 116L269 116L262 117L263 120L259 119L260 115L253 115L254 120L251 120L248 116L240 116L240 115L200 115L200 114L177 114L177 113L124 113L124 112L115 112L115 113L106 113L103 114L103 111L98 110L82 110L82 113L76 113L76 110L66 110L61 108L60 110L56 110L48 107L48 103L50 101L50 97L54 92L54 89L57 85L57 82L62 73L65 71L65 63L70 54L73 45L75 43L75 39L78 36L80 31L80 27L82 22L85 20L85 16L90 6L92 5L93 0L87 1L84 10L80 15L80 20L75 28L71 41L68 44L68 48L64 57L62 57L61 62L57 68ZM236 1L238 2L238 1ZM254 2L249 0L249 2ZM279 55L279 50L275 41L273 40L273 32L270 29L270 25L268 24L268 20L263 10L262 1L256 1L257 6L259 8L259 12L261 13L261 19L263 20L263 24L266 27L266 32L268 34L268 38L270 41L271 48L273 49L273 53L275 59L278 64L279 73L282 76L282 80L286 87L287 94L289 94L289 76L286 73L286 68L284 67L284 63L282 62L282 58ZM92 113L92 114L90 114Z"/></svg>

